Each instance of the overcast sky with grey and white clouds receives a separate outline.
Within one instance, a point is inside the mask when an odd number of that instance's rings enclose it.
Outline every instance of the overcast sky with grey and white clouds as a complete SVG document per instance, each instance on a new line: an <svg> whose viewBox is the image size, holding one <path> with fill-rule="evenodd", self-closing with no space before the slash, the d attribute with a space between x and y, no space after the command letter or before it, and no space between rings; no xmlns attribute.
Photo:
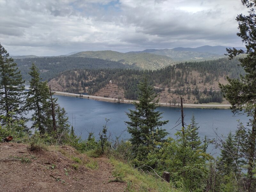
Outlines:
<svg viewBox="0 0 256 192"><path fill-rule="evenodd" d="M0 44L10 55L244 46L240 0L0 0Z"/></svg>

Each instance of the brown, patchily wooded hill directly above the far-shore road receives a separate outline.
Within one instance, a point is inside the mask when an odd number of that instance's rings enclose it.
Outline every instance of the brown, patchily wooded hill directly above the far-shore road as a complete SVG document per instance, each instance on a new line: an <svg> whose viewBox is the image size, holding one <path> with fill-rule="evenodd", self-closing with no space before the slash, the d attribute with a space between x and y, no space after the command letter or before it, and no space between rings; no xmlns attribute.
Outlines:
<svg viewBox="0 0 256 192"><path fill-rule="evenodd" d="M106 87L111 80L118 89L124 90L124 98L137 99L137 84L141 75L146 73L150 83L161 88L157 91L161 92L160 96L162 95L163 102L168 103L179 95L186 97L189 102L222 102L220 92L216 92L215 95L215 98L218 95L218 100L211 100L210 97L213 96L211 94L214 90L219 90L219 82L227 83L227 75L231 78L239 78L240 74L244 74L243 69L237 64L239 64L237 58L233 60L222 58L201 62L185 62L153 71L138 69L76 70L64 72L51 80L50 84L55 84L61 91L98 94L97 92ZM210 90L212 93L209 96ZM108 94L104 96L108 97Z"/></svg>

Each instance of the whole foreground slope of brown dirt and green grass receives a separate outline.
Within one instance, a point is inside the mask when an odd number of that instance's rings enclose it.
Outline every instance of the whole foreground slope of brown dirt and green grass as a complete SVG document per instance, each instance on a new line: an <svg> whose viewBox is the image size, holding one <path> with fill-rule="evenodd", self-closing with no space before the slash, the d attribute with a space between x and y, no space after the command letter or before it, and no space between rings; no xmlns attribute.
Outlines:
<svg viewBox="0 0 256 192"><path fill-rule="evenodd" d="M27 144L0 143L0 167L0 190L6 192L156 192L160 186L163 191L178 192L127 164L106 157L92 158L70 146L31 150Z"/></svg>

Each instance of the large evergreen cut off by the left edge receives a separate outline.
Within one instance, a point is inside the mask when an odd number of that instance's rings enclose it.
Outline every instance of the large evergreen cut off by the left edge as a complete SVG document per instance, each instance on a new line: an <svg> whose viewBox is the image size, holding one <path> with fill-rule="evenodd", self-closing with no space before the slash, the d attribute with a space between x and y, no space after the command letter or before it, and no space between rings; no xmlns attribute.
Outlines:
<svg viewBox="0 0 256 192"><path fill-rule="evenodd" d="M0 114L6 118L2 121L18 119L25 113L24 83L17 64L0 44Z"/></svg>

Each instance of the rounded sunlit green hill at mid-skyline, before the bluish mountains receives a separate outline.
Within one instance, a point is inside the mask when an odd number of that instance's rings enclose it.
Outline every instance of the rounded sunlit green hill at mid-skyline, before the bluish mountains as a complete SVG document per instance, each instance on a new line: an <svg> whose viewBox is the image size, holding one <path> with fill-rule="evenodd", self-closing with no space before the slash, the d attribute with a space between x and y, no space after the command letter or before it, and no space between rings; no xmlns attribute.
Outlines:
<svg viewBox="0 0 256 192"><path fill-rule="evenodd" d="M86 51L70 55L70 57L88 57L113 60L129 65L135 64L143 69L158 69L174 63L174 61L167 56L147 52L121 53L116 51Z"/></svg>

